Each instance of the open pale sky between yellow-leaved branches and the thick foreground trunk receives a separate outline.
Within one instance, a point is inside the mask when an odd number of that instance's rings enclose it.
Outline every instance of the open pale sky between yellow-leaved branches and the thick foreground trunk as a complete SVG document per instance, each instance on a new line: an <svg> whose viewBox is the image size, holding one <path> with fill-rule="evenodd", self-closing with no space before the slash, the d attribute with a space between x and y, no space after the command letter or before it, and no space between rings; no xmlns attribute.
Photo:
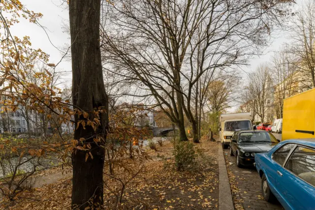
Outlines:
<svg viewBox="0 0 315 210"><path fill-rule="evenodd" d="M20 23L11 28L12 34L19 38L30 36L32 48L40 48L50 56L49 63L57 64L63 57L60 50L65 44L70 45L69 35L63 29L64 23L69 22L68 10L61 6L61 0L21 0L21 2L29 10L43 14L38 22L45 30L21 18ZM67 71L68 73L63 76L63 82L71 84L70 61L62 60L56 71Z"/></svg>

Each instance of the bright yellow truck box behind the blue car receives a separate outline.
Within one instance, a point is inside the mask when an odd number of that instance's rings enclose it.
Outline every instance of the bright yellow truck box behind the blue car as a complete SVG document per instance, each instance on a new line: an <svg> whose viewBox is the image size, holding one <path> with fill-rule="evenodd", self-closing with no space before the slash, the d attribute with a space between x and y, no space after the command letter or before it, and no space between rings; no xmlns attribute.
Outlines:
<svg viewBox="0 0 315 210"><path fill-rule="evenodd" d="M282 141L315 138L315 88L284 99Z"/></svg>

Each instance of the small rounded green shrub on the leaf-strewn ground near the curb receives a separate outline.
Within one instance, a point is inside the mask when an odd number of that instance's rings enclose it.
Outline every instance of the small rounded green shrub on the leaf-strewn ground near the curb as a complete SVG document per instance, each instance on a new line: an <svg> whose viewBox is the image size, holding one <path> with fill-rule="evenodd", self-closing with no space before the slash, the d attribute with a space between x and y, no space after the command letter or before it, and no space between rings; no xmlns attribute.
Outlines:
<svg viewBox="0 0 315 210"><path fill-rule="evenodd" d="M178 171L184 171L193 166L196 157L194 145L191 142L173 141L175 166Z"/></svg>

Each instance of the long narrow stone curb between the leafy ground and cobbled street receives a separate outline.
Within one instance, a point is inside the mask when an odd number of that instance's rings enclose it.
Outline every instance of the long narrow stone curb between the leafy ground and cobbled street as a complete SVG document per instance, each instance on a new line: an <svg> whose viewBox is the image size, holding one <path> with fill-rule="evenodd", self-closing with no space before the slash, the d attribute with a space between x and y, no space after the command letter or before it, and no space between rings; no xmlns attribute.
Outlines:
<svg viewBox="0 0 315 210"><path fill-rule="evenodd" d="M219 142L219 210L234 210L221 142Z"/></svg>

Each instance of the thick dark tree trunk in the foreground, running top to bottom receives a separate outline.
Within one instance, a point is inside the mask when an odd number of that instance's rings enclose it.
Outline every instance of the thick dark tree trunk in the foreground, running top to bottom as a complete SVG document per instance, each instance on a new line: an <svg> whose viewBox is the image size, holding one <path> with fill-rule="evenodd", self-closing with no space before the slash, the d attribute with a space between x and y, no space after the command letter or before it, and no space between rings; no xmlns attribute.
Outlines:
<svg viewBox="0 0 315 210"><path fill-rule="evenodd" d="M72 57L72 100L77 107L95 118L93 110L102 108L100 125L94 130L82 124L75 130L74 139L85 138L91 143L92 158L85 161L86 151L72 152L73 180L72 207L84 210L90 202L102 209L103 206L103 166L105 151L93 144L93 137L106 140L108 127L108 98L104 87L99 48L100 0L69 1L71 57ZM75 125L86 120L83 115L75 115ZM91 200L92 199L92 200Z"/></svg>

